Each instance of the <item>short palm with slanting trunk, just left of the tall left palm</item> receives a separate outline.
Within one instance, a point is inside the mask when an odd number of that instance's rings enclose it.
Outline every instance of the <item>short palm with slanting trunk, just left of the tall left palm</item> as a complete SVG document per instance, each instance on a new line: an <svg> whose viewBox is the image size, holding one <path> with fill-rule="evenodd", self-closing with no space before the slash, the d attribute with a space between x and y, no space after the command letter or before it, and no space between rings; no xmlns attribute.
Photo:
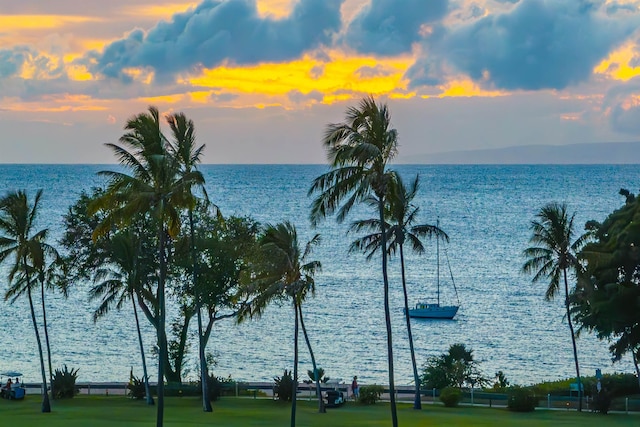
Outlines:
<svg viewBox="0 0 640 427"><path fill-rule="evenodd" d="M147 360L136 305L136 299L140 298L145 284L152 280L153 271L150 269L149 263L145 262L144 255L140 251L138 237L130 230L114 235L106 243L105 253L107 266L103 266L95 272L94 281L98 283L89 290L89 299L101 298L100 306L93 313L93 321L97 322L114 306L117 310L121 310L128 300L131 301L140 356L142 357L146 400L148 405L153 405L154 400L149 387Z"/></svg>

